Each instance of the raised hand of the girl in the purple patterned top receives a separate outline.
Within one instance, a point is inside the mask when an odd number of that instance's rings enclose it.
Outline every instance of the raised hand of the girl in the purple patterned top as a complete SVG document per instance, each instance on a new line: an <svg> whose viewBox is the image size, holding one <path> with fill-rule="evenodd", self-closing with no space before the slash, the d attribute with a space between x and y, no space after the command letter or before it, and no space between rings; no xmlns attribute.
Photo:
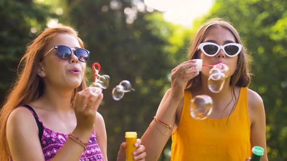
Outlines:
<svg viewBox="0 0 287 161"><path fill-rule="evenodd" d="M92 130L96 122L96 112L103 100L103 94L100 92L97 96L92 94L96 87L88 87L75 96L73 109L77 118L77 129Z"/></svg>

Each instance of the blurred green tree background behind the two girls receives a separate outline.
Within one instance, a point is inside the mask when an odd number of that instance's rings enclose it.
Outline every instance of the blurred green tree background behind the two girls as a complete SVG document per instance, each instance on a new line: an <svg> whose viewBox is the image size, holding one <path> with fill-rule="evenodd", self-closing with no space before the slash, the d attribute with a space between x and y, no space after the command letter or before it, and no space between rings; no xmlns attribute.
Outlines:
<svg viewBox="0 0 287 161"><path fill-rule="evenodd" d="M196 5L196 4L195 4ZM264 100L269 161L287 160L287 1L215 0L208 15L186 29L166 22L162 13L141 0L0 0L0 102L15 80L19 58L37 32L47 26L75 27L90 50L90 66L101 64L110 76L99 112L108 135L108 159L115 161L126 131L138 137L155 115L161 97L170 88L170 71L187 60L190 38L213 17L230 20L251 54L255 76L251 89ZM111 97L122 80L135 92L120 101ZM171 141L160 161L169 161Z"/></svg>

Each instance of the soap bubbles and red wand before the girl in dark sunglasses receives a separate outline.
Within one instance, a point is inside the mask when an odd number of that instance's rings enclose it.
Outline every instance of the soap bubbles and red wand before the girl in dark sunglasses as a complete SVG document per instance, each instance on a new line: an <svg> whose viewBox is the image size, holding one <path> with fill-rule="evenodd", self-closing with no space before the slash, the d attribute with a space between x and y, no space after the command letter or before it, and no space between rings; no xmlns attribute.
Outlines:
<svg viewBox="0 0 287 161"><path fill-rule="evenodd" d="M95 66L98 66L96 69ZM109 84L109 76L108 75L100 75L99 71L101 69L100 64L94 63L92 65L92 69L95 72L94 73L94 88L90 88L90 92L94 96L98 96L102 93L103 89L108 88ZM120 100L124 97L126 92L134 91L134 89L131 87L131 84L129 81L121 81L118 85L116 85L112 90L112 97L114 100Z"/></svg>

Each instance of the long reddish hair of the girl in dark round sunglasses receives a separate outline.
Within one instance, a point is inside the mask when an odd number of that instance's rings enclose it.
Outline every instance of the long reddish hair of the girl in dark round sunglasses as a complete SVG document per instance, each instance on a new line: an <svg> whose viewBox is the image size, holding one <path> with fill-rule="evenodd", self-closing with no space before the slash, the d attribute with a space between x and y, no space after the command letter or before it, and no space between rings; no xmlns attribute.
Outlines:
<svg viewBox="0 0 287 161"><path fill-rule="evenodd" d="M0 161L7 161L9 159L6 139L6 124L8 116L16 107L28 104L43 94L43 81L37 75L38 64L43 59L46 46L57 34L60 33L74 36L78 40L81 48L84 48L83 41L78 37L78 33L68 26L47 28L28 45L26 53L21 58L18 65L17 79L11 86L0 111ZM83 79L81 85L74 89L72 101L75 94L85 88L87 88L86 80Z"/></svg>

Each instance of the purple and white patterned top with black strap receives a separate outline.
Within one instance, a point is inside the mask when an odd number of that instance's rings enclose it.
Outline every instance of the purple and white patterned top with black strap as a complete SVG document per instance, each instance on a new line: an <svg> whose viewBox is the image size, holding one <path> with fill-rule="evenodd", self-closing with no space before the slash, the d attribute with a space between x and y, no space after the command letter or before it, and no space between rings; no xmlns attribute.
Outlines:
<svg viewBox="0 0 287 161"><path fill-rule="evenodd" d="M43 135L40 142L43 149L45 161L50 161L66 143L67 139L69 138L68 134L55 132L51 129L46 128L37 116L37 114L34 113L29 107L19 107L29 109L31 113L33 113L35 118L43 126ZM12 158L10 158L10 161L13 161ZM79 159L79 161L105 161L102 151L97 143L97 136L95 130L93 130L90 136L90 140L88 142L87 149L83 152L82 157Z"/></svg>

